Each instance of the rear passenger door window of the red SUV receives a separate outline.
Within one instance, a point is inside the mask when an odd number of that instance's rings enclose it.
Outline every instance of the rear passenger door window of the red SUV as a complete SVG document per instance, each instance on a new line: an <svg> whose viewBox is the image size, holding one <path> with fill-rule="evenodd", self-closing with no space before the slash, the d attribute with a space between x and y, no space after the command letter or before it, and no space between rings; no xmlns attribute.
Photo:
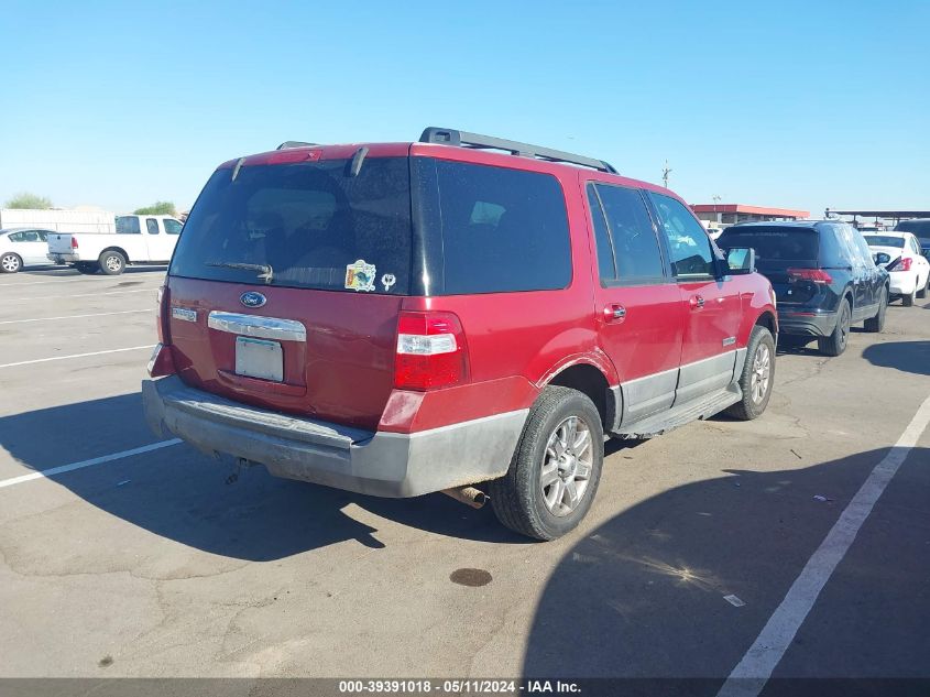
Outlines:
<svg viewBox="0 0 930 697"><path fill-rule="evenodd" d="M659 242L646 205L638 190L606 184L591 184L589 192L594 193L603 206L606 218L608 243L601 249L598 243L598 264L604 285L639 285L664 281L664 264ZM594 209L595 215L600 211ZM613 274L605 276L602 255L611 254L609 268ZM610 263L612 262L612 263Z"/></svg>

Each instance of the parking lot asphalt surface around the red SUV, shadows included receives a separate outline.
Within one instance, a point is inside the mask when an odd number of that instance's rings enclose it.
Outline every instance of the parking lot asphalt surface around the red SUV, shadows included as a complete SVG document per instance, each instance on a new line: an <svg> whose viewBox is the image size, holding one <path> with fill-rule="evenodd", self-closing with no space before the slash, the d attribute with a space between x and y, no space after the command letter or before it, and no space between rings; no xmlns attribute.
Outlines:
<svg viewBox="0 0 930 697"><path fill-rule="evenodd" d="M719 687L795 608L792 584L930 396L930 303L895 303L842 357L780 351L755 422L610 443L588 520L530 543L441 494L374 499L262 468L230 482L160 442L139 384L163 276L0 276L0 677ZM930 676L930 433L906 455L775 676ZM452 581L463 568L491 580Z"/></svg>

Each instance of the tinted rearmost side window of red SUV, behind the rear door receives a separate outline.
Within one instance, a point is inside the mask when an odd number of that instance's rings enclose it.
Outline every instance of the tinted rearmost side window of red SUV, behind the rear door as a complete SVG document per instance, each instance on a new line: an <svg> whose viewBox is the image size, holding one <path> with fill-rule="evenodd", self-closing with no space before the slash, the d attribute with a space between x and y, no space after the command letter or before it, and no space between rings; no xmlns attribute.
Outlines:
<svg viewBox="0 0 930 697"><path fill-rule="evenodd" d="M427 157L413 162L427 295L547 291L571 282L558 179Z"/></svg>

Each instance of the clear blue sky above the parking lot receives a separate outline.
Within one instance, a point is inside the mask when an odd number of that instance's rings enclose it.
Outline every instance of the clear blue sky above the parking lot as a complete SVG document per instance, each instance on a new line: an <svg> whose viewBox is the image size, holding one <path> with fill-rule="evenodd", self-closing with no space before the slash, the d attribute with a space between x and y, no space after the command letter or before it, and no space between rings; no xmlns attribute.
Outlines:
<svg viewBox="0 0 930 697"><path fill-rule="evenodd" d="M691 203L930 208L930 2L3 3L0 203L186 208L284 140L444 126Z"/></svg>

